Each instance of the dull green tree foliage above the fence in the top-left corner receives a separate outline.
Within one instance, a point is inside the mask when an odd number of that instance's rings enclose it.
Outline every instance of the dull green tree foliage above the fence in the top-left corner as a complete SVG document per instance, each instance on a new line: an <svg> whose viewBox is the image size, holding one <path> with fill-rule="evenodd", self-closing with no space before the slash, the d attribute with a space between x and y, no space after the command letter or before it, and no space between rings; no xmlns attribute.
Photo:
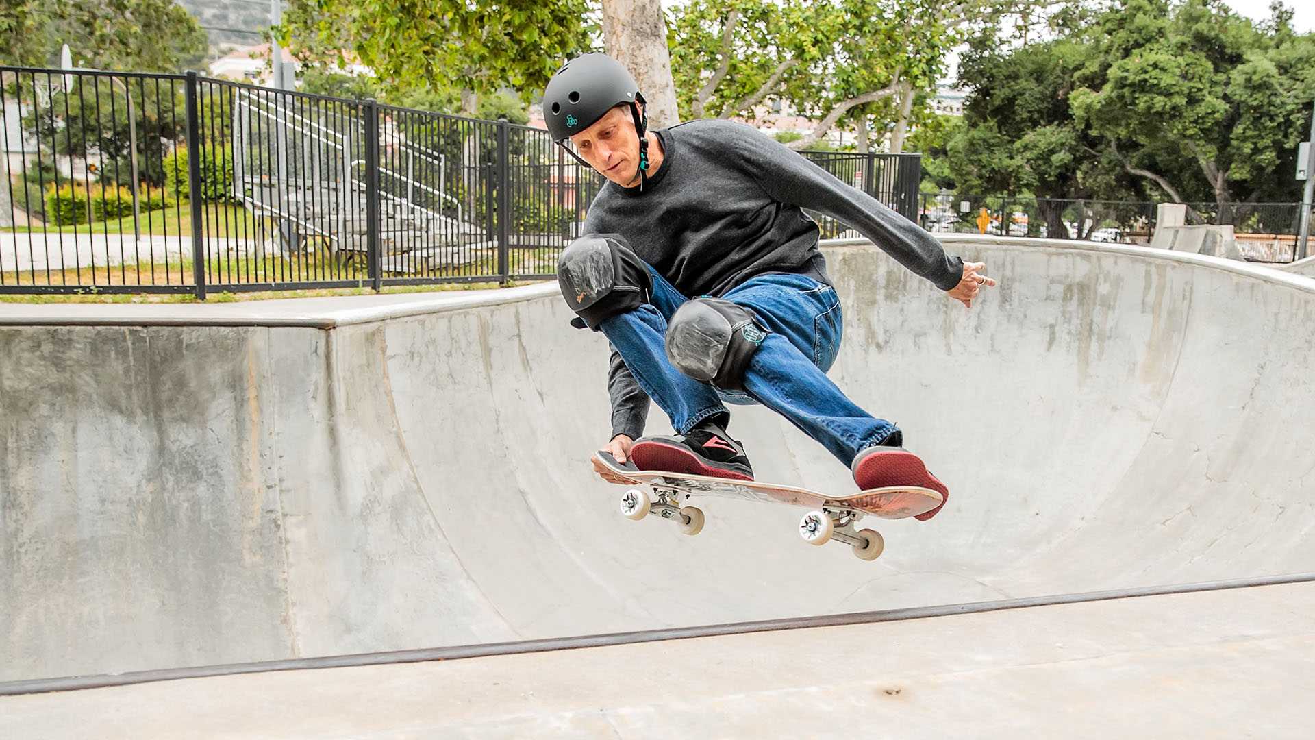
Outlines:
<svg viewBox="0 0 1315 740"><path fill-rule="evenodd" d="M0 63L53 66L67 43L74 63L171 72L199 66L205 32L174 0L3 0Z"/></svg>

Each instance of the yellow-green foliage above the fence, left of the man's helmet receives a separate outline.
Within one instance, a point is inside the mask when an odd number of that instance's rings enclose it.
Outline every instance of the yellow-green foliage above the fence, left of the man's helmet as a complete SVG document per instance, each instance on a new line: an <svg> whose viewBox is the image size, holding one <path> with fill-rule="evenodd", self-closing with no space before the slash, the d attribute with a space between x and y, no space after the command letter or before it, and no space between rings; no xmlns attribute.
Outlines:
<svg viewBox="0 0 1315 740"><path fill-rule="evenodd" d="M529 100L562 59L588 47L585 0L292 0L279 38L318 67L370 67L384 93L479 99L514 90Z"/></svg>

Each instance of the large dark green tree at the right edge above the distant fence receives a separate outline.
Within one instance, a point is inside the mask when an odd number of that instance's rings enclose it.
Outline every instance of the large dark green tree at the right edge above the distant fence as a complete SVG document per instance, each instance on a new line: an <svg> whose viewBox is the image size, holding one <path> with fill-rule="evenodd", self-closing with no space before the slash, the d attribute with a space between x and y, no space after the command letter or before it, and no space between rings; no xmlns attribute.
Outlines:
<svg viewBox="0 0 1315 740"><path fill-rule="evenodd" d="M1173 200L1297 196L1289 172L1315 97L1315 37L1218 0L1124 0L1101 16L1076 75L1077 122Z"/></svg>

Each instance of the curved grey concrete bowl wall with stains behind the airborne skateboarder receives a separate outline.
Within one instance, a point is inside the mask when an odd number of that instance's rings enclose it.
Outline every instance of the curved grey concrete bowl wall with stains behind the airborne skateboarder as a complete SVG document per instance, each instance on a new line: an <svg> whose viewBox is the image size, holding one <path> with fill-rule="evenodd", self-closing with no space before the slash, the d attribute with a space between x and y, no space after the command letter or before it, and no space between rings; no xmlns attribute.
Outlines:
<svg viewBox="0 0 1315 740"><path fill-rule="evenodd" d="M0 679L1312 570L1315 280L948 249L1001 279L972 311L871 246L827 251L832 378L951 487L935 520L881 523L871 564L803 544L786 507L707 500L693 539L622 519L586 462L606 342L552 284L7 307ZM760 478L852 486L789 424L734 413Z"/></svg>

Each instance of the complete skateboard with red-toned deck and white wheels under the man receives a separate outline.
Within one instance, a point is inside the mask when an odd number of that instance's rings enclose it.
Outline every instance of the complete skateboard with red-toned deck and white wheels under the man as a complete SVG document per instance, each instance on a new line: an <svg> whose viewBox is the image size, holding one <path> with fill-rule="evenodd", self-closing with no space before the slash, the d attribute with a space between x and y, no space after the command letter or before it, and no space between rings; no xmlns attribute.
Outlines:
<svg viewBox="0 0 1315 740"><path fill-rule="evenodd" d="M752 502L784 503L809 507L800 520L800 536L813 545L843 542L860 560L876 560L885 549L885 540L874 529L855 529L863 516L905 519L940 506L942 495L931 489L886 487L855 494L827 496L807 489L731 481L709 475L688 475L660 470L639 470L630 461L619 463L611 453L593 454L593 470L600 478L618 486L633 486L621 495L621 514L640 520L654 515L675 521L684 535L704 529L704 512L689 506L694 496L721 496Z"/></svg>

